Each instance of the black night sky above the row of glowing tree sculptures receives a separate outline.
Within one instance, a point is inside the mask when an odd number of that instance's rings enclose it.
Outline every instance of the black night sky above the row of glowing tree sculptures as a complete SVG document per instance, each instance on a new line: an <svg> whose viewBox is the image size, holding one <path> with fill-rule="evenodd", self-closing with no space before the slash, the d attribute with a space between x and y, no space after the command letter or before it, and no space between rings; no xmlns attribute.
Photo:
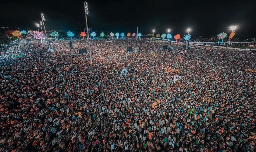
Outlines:
<svg viewBox="0 0 256 152"><path fill-rule="evenodd" d="M85 28L82 0L32 1L1 0L0 26L34 29L44 13L47 30L80 30ZM174 0L88 0L88 26L93 31L167 33L196 36L216 36L230 33L229 26L237 25L236 36L256 37L256 2L251 1L174 1Z"/></svg>

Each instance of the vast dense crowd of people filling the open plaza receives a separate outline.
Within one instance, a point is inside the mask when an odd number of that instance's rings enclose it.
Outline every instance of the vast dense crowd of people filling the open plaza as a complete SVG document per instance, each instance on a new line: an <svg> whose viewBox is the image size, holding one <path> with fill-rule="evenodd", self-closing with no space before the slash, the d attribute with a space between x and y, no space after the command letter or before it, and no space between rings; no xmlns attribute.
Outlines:
<svg viewBox="0 0 256 152"><path fill-rule="evenodd" d="M1 52L1 151L254 151L255 51L72 43Z"/></svg>

